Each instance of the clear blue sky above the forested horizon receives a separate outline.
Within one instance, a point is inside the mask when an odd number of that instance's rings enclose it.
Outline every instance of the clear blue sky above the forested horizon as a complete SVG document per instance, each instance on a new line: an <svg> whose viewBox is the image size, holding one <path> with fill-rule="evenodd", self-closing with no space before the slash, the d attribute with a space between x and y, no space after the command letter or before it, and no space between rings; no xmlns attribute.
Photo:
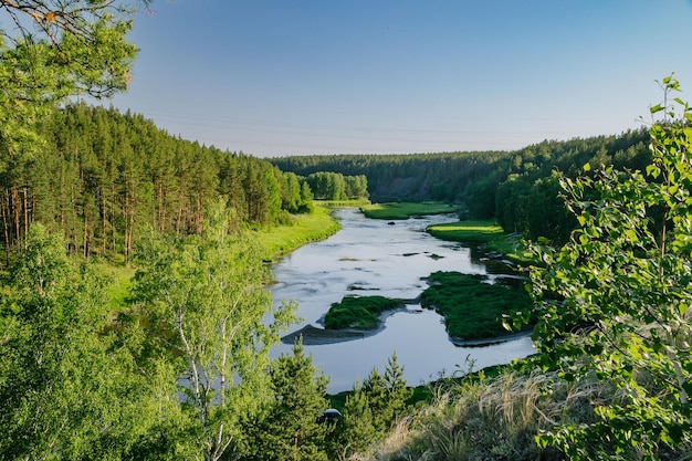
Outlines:
<svg viewBox="0 0 692 461"><path fill-rule="evenodd" d="M692 0L156 0L126 94L259 157L512 150L692 102ZM111 103L105 103L111 104Z"/></svg>

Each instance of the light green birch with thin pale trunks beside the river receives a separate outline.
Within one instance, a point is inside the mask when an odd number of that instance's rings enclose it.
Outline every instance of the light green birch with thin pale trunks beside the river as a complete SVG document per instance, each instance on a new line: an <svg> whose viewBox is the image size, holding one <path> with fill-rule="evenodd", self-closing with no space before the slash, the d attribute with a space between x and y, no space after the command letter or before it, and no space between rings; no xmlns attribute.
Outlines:
<svg viewBox="0 0 692 461"><path fill-rule="evenodd" d="M223 199L210 207L201 237L153 235L138 262L134 297L161 325L157 339L185 378L179 391L197 452L229 457L241 450L243 419L269 399L268 375L259 370L268 368L293 305L272 311L256 248L229 234Z"/></svg>

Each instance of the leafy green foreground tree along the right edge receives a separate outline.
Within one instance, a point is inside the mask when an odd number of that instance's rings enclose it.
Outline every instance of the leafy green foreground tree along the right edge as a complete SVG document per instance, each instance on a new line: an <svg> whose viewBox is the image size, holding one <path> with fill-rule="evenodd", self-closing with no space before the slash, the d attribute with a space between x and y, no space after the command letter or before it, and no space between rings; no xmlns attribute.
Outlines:
<svg viewBox="0 0 692 461"><path fill-rule="evenodd" d="M670 94L652 107L652 163L560 178L578 220L559 250L537 248L532 272L538 364L572 381L590 373L619 399L594 407L595 421L543 433L542 446L573 459L657 459L690 441L692 422L692 111ZM517 321L525 323L528 311ZM636 430L635 430L636 428ZM608 440L609 443L602 443Z"/></svg>

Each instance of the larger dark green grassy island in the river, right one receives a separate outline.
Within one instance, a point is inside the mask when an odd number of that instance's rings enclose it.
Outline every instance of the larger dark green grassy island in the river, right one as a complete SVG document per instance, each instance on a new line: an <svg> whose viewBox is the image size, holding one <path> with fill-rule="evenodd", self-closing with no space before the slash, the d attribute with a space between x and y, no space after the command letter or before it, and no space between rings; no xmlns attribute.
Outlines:
<svg viewBox="0 0 692 461"><path fill-rule="evenodd" d="M531 310L532 301L523 290L485 283L486 277L460 272L436 272L431 286L421 294L423 307L436 308L447 332L459 339L485 339L506 334L502 315Z"/></svg>

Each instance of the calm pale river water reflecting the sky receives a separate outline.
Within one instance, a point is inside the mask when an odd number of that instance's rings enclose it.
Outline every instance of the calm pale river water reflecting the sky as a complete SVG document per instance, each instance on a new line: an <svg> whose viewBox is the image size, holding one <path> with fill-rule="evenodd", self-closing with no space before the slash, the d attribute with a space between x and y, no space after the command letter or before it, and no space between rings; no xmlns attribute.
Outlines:
<svg viewBox="0 0 692 461"><path fill-rule="evenodd" d="M321 317L332 303L347 294L415 298L428 285L421 280L436 271L485 274L486 268L472 261L470 250L438 240L424 232L432 223L452 222L455 217L431 216L394 221L368 219L357 209L335 212L342 230L329 239L311 243L274 264L277 281L272 286L274 303L295 300L304 325L321 327ZM523 337L485 347L453 345L443 318L433 311L409 305L391 314L379 333L344 343L305 346L313 364L331 378L329 392L352 389L373 368L385 370L396 350L410 386L437 379L441 374L464 371L508 363L534 352ZM272 355L290 353L291 345L276 346Z"/></svg>

